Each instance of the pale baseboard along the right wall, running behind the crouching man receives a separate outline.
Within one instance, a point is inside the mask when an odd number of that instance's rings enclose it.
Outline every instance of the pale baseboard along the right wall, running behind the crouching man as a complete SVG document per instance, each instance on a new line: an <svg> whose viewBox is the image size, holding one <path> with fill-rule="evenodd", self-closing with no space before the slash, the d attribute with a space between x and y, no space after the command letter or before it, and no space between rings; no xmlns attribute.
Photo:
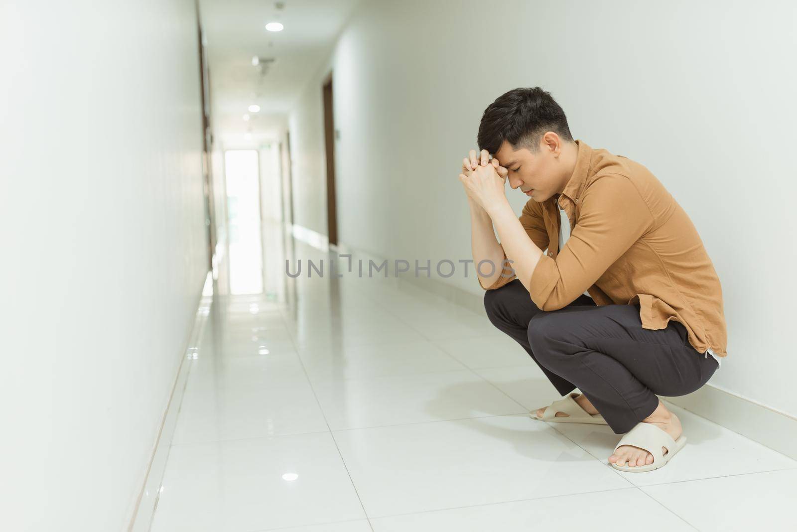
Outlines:
<svg viewBox="0 0 797 532"><path fill-rule="evenodd" d="M327 240L324 235L308 229L300 228L297 230L296 226L294 226L292 234L297 239L324 251L334 248L338 252L351 253L353 256L361 256L378 262L385 260L384 257L373 256L367 251L359 250L346 244L328 246L325 244ZM316 245L319 243L321 245ZM471 291L434 277L416 277L403 274L396 279L396 282L399 286L402 283L417 286L468 308L478 315L485 315L483 293L474 294ZM475 278L473 282L478 283ZM795 441L797 441L797 418L787 413L771 409L768 406L752 401L752 399L741 397L736 393L720 389L711 384L706 384L696 392L689 393L689 395L660 397L673 405L680 406L682 409L689 410L689 412L695 413L700 417L705 417L709 421L720 424L750 440L755 440L768 448L797 460L797 445L795 445Z"/></svg>

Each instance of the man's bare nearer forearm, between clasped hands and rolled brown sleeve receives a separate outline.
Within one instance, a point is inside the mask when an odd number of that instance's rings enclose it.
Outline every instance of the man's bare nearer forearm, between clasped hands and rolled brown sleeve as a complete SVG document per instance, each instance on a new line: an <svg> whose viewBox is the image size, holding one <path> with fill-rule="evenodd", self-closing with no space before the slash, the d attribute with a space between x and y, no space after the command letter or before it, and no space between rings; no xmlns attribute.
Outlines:
<svg viewBox="0 0 797 532"><path fill-rule="evenodd" d="M497 207L489 213L489 216L496 227L498 236L501 237L503 252L506 253L508 260L512 260L512 269L515 270L515 275L526 287L526 290L531 291L532 273L543 256L542 250L528 237L528 233L523 229L523 225L520 224L520 220L512 212L512 207L508 203ZM495 237L493 237L494 240ZM501 260L503 258L501 251L499 254L501 256L498 260ZM498 275L500 274L501 270L499 269Z"/></svg>

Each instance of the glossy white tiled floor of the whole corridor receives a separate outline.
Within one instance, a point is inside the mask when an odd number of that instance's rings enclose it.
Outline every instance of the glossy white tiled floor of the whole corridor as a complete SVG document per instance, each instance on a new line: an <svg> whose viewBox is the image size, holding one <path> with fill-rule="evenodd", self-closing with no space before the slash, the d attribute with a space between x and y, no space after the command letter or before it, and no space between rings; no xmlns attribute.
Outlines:
<svg viewBox="0 0 797 532"><path fill-rule="evenodd" d="M559 395L485 316L392 280L289 282L214 300L154 532L797 530L778 452L672 406L687 446L614 471L611 428L526 416Z"/></svg>

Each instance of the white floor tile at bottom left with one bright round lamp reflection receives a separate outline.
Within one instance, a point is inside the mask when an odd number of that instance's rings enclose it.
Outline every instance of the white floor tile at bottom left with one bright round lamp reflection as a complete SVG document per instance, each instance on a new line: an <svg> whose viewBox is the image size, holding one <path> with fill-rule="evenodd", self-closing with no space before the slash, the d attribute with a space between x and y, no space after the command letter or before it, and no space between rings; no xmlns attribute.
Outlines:
<svg viewBox="0 0 797 532"><path fill-rule="evenodd" d="M305 434L171 448L151 530L243 532L362 518L332 436Z"/></svg>

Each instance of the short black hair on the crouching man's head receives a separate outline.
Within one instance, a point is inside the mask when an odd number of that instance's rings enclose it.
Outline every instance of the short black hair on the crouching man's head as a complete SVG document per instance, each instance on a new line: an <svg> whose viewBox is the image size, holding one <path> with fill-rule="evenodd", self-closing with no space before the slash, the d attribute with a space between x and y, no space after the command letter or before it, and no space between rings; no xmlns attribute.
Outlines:
<svg viewBox="0 0 797 532"><path fill-rule="evenodd" d="M498 96L481 115L477 143L480 151L487 150L491 155L505 140L514 150L528 147L533 152L548 131L565 141L573 140L567 117L550 92L539 87L513 88Z"/></svg>

